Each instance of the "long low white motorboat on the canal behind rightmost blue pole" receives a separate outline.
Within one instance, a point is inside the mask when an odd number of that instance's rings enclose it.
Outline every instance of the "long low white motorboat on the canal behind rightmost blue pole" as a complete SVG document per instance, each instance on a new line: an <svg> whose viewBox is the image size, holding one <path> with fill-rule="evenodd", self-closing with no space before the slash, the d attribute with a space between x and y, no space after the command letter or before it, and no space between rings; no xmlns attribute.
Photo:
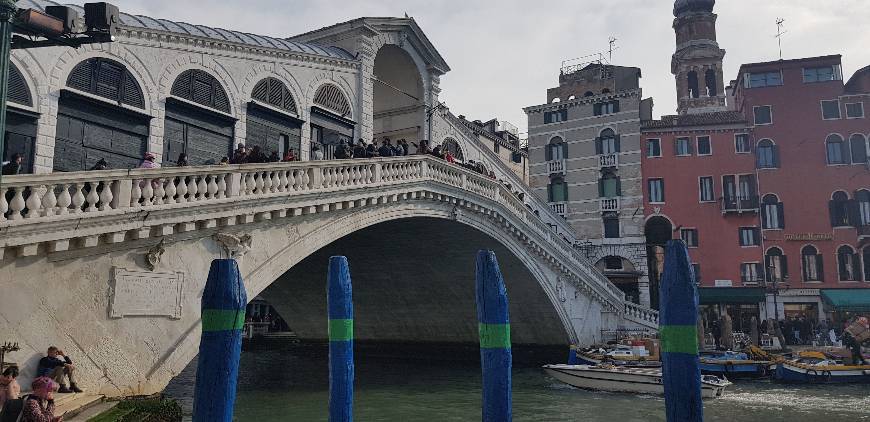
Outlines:
<svg viewBox="0 0 870 422"><path fill-rule="evenodd" d="M565 384L586 390L664 395L660 368L613 365L544 365L544 371ZM701 376L701 397L720 397L731 383L713 375Z"/></svg>

